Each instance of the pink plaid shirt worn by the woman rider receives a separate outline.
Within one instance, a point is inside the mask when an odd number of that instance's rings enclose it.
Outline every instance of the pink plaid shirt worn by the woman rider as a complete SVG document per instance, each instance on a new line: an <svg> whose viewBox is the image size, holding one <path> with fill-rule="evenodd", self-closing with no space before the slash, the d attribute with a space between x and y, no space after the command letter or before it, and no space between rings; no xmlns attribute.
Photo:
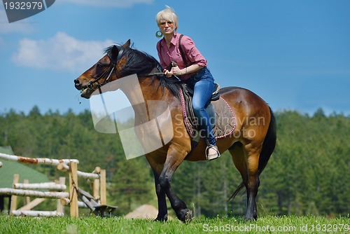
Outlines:
<svg viewBox="0 0 350 234"><path fill-rule="evenodd" d="M180 69L183 69L186 67L184 64L181 53L179 50L179 36L181 34L174 34L174 37L172 38L172 41L170 42L169 48L167 47L167 43L165 39L161 39L157 43L157 51L158 56L160 59L160 64L162 65L163 69L166 69L170 62L174 61L177 63ZM197 64L200 66L207 66L207 60L201 55L200 51L197 50L195 47L195 43L192 39L190 39L189 36L183 35L181 39L181 47L183 49L183 53L187 56L187 66L190 66L192 64ZM188 78L192 76L191 74L186 74L181 76L181 80L185 81Z"/></svg>

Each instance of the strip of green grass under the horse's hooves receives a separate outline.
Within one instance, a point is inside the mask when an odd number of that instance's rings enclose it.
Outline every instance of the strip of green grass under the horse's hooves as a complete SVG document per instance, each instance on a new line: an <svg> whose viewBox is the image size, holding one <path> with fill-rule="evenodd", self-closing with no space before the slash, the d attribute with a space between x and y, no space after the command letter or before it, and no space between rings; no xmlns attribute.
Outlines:
<svg viewBox="0 0 350 234"><path fill-rule="evenodd" d="M100 218L96 216L33 218L0 215L0 233L350 233L350 218L323 216L262 216L244 222L242 217L193 219L181 223L151 220Z"/></svg>

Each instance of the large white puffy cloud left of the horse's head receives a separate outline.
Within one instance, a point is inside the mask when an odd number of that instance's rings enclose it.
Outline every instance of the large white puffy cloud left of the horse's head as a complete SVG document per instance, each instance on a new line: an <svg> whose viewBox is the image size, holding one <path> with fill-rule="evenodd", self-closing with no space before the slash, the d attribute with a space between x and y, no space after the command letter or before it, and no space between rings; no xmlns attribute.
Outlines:
<svg viewBox="0 0 350 234"><path fill-rule="evenodd" d="M85 71L103 56L104 48L111 44L109 40L79 41L58 32L47 41L22 39L12 60L20 66L36 69Z"/></svg>

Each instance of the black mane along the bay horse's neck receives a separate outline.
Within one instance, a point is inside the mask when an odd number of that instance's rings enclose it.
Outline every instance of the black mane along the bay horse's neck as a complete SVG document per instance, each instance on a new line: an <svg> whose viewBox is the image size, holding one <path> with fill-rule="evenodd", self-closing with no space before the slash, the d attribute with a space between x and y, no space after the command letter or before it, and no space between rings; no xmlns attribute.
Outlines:
<svg viewBox="0 0 350 234"><path fill-rule="evenodd" d="M122 48L120 45L116 45L118 50ZM124 48L123 55L126 57L125 66L120 71L120 76L129 76L132 74L137 74L137 76L142 77L145 74L151 73L153 69L158 69L159 72L162 71L162 65L158 60L155 59L152 55L148 55L148 53L134 49L131 47ZM109 46L104 51L106 55L111 57L113 46ZM147 77L147 76L145 76ZM164 89L167 88L175 97L179 97L179 91L181 88L181 83L175 78L167 78L164 74L156 74L152 75L152 82L158 80L158 88Z"/></svg>

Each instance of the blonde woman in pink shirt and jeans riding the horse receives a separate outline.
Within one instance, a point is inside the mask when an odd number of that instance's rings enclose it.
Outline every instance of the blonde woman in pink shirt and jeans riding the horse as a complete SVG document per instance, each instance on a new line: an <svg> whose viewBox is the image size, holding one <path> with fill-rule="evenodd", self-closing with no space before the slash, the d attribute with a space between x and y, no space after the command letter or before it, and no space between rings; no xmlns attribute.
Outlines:
<svg viewBox="0 0 350 234"><path fill-rule="evenodd" d="M167 6L165 10L160 11L156 15L156 22L160 31L155 35L159 38L163 36L157 43L157 50L165 76L177 76L193 87L193 111L200 123L201 136L207 137L207 159L216 159L220 157L220 153L206 109L214 90L214 78L207 69L207 60L197 50L190 37L176 33L178 17L172 8ZM170 69L169 65L172 62L176 62L177 66Z"/></svg>

